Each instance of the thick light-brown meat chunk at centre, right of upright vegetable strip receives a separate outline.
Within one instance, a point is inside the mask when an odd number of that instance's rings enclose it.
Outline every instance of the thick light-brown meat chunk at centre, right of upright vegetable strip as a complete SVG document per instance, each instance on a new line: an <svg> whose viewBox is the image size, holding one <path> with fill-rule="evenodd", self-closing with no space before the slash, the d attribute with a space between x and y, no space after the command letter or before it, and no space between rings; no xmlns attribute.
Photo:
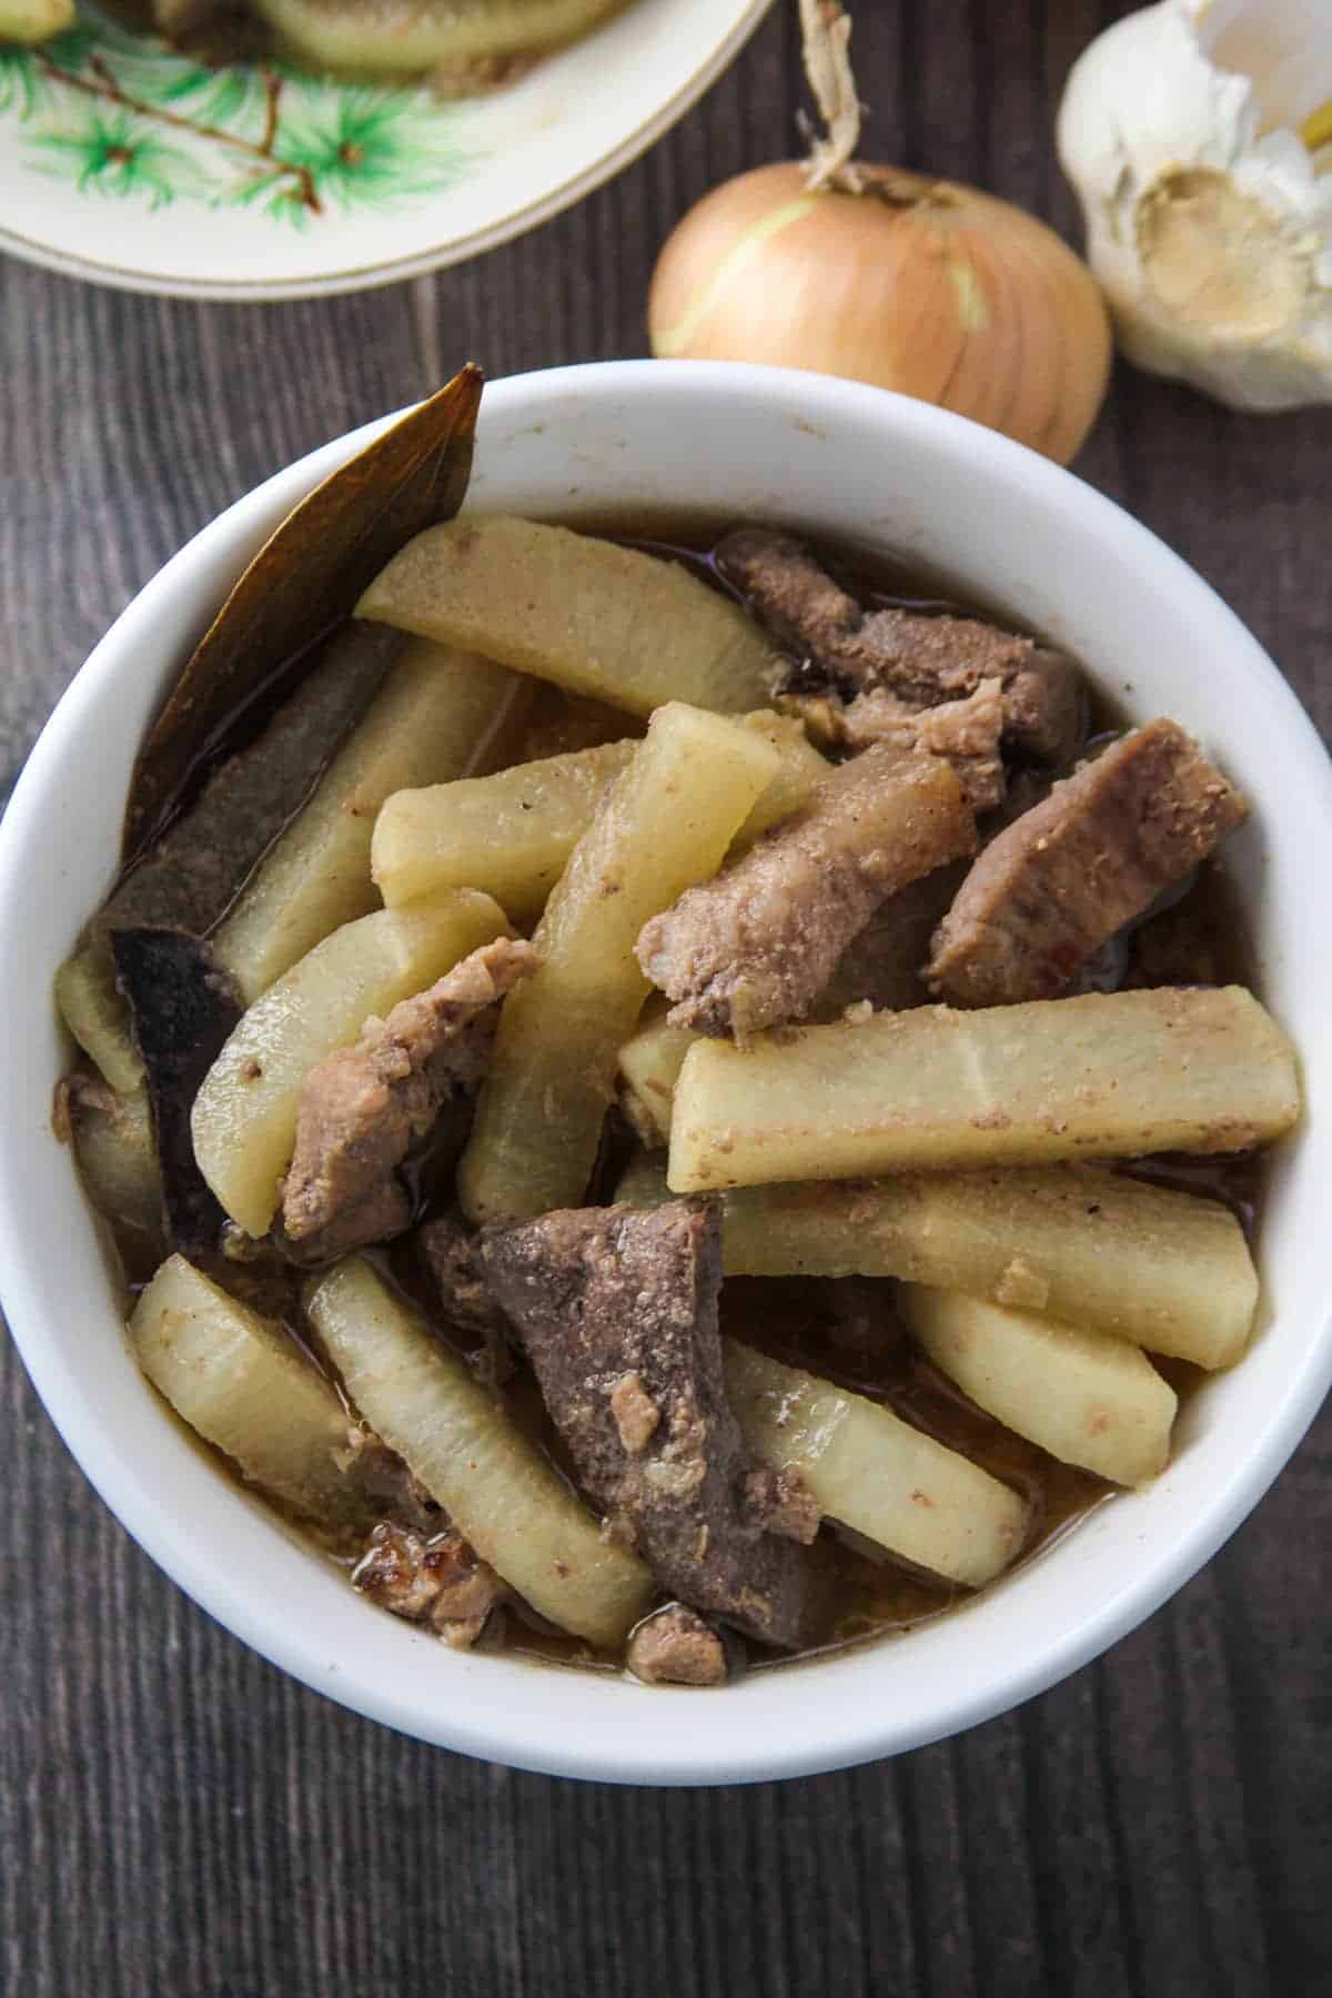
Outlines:
<svg viewBox="0 0 1332 1998"><path fill-rule="evenodd" d="M745 853L645 923L643 971L671 1021L745 1041L805 1019L875 909L961 853L977 827L939 757L867 749Z"/></svg>

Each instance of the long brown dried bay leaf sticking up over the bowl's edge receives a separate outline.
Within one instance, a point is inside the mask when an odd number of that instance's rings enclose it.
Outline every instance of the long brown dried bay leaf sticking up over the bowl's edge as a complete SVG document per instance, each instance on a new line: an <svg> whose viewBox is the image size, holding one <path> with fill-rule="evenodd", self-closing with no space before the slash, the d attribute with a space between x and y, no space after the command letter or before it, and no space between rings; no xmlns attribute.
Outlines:
<svg viewBox="0 0 1332 1998"><path fill-rule="evenodd" d="M467 364L330 474L270 535L196 645L144 743L126 851L166 823L200 761L284 669L351 611L397 549L467 492L481 370Z"/></svg>

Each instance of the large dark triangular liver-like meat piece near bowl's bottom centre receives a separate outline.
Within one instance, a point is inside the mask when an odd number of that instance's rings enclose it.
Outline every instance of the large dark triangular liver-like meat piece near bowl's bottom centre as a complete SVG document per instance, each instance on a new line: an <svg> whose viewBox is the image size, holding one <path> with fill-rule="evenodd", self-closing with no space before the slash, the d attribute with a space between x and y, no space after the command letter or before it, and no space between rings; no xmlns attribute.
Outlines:
<svg viewBox="0 0 1332 1998"><path fill-rule="evenodd" d="M579 1483L661 1586L769 1644L797 1644L801 1556L745 1504L753 1467L725 1397L717 1211L563 1209L487 1229L483 1255ZM631 1431L635 1449L621 1429L627 1375L635 1413L657 1413L651 1433L645 1421Z"/></svg>

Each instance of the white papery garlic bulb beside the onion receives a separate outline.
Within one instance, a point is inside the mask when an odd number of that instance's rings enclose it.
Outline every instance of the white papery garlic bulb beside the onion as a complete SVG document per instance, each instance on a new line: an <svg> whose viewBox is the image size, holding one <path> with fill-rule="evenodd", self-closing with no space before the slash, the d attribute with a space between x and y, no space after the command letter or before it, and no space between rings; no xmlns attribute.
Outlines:
<svg viewBox="0 0 1332 1998"><path fill-rule="evenodd" d="M1160 0L1078 58L1058 156L1124 354L1240 410L1332 402L1332 10Z"/></svg>

